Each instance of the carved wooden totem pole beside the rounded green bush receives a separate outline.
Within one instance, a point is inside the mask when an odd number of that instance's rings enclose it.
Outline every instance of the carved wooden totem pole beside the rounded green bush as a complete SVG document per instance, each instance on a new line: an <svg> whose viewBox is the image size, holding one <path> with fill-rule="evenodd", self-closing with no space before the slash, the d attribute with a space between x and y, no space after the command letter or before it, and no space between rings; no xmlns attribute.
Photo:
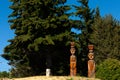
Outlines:
<svg viewBox="0 0 120 80"><path fill-rule="evenodd" d="M94 53L93 53L93 45L88 45L89 53L88 53L88 77L95 77L95 61L94 61Z"/></svg>

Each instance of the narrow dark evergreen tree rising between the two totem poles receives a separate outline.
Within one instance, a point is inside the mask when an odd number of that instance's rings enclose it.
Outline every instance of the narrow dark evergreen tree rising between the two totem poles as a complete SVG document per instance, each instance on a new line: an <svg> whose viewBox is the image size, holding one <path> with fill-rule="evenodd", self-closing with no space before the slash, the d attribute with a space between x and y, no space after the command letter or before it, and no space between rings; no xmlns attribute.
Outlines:
<svg viewBox="0 0 120 80"><path fill-rule="evenodd" d="M76 8L75 15L80 19L78 29L81 30L81 34L79 34L81 48L80 54L78 55L78 72L83 76L87 76L87 46L91 44L89 35L92 33L91 24L94 20L94 10L89 8L88 2L89 0L78 0L80 6L74 6Z"/></svg>

